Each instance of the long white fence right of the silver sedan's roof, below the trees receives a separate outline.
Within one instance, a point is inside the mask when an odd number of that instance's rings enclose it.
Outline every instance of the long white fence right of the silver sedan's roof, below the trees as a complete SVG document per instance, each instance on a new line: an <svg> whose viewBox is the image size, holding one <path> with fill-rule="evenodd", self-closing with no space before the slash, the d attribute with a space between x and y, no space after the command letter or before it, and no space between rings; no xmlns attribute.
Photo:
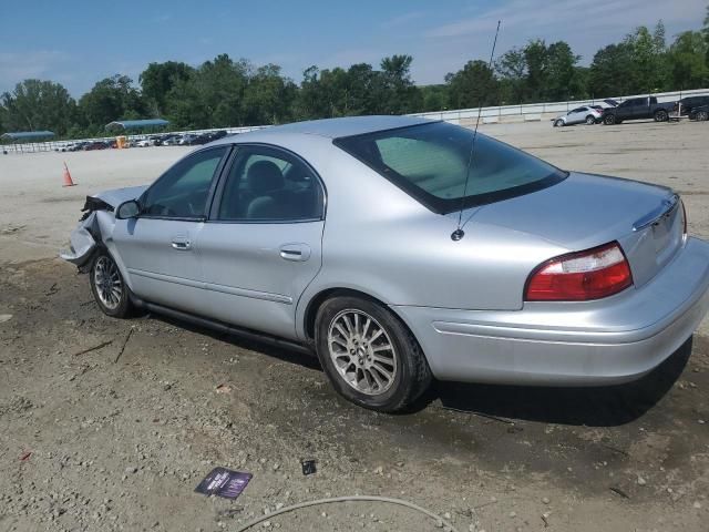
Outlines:
<svg viewBox="0 0 709 532"><path fill-rule="evenodd" d="M674 102L687 96L709 95L709 89L695 89L691 91L660 92L653 94L658 102ZM629 98L647 96L647 94L634 94L616 96L612 100L623 102ZM480 110L481 122L484 124L497 122L533 122L544 119L553 119L562 113L582 105L595 105L607 99L576 100L569 102L526 103L522 105L500 105L495 108L482 108ZM469 125L477 120L477 108L458 109L453 111L435 111L429 113L412 113L411 116L444 120L454 124Z"/></svg>

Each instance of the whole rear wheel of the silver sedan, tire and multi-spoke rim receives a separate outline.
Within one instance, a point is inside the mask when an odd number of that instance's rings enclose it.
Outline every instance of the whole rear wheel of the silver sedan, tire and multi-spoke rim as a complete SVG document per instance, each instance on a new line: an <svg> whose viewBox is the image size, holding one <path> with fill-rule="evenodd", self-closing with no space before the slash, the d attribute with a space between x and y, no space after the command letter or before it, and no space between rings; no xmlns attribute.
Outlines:
<svg viewBox="0 0 709 532"><path fill-rule="evenodd" d="M336 391L360 407L395 412L431 383L431 370L411 331L369 299L328 299L316 318L316 349Z"/></svg>

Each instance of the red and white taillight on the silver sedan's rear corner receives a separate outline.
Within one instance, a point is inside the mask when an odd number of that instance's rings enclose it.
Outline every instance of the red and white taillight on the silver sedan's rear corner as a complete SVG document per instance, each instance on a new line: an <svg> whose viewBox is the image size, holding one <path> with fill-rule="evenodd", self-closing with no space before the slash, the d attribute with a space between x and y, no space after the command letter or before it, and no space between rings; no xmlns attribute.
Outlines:
<svg viewBox="0 0 709 532"><path fill-rule="evenodd" d="M527 301L587 301L633 285L627 258L616 242L542 263L527 279Z"/></svg>

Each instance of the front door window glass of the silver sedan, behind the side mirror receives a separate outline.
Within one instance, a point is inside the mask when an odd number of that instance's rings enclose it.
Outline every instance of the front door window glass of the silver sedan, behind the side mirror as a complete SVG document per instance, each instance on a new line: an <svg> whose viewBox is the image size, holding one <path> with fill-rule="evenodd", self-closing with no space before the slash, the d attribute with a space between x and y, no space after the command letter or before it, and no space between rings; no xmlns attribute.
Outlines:
<svg viewBox="0 0 709 532"><path fill-rule="evenodd" d="M141 198L142 213L167 218L204 217L212 180L228 150L203 150L179 161L146 191Z"/></svg>

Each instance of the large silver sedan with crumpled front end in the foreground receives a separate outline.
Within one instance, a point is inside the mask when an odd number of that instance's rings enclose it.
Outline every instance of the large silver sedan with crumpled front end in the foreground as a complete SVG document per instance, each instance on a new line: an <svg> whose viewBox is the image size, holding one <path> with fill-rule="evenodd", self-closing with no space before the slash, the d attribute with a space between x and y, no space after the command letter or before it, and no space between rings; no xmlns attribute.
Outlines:
<svg viewBox="0 0 709 532"><path fill-rule="evenodd" d="M85 211L62 257L103 313L315 352L339 393L381 411L433 377L634 380L709 309L709 243L671 190L413 116L227 136Z"/></svg>

